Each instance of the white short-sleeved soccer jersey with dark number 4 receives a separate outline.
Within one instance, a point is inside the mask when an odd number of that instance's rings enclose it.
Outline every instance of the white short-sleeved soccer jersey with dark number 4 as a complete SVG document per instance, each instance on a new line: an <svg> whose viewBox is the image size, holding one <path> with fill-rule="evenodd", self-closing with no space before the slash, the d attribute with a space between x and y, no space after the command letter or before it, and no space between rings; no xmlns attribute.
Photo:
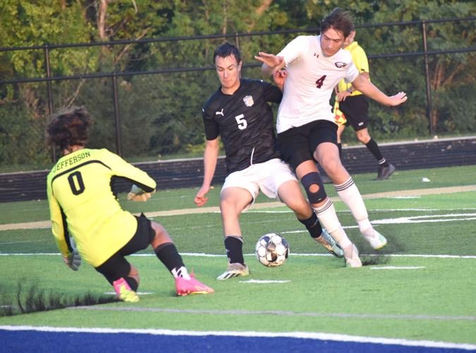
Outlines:
<svg viewBox="0 0 476 353"><path fill-rule="evenodd" d="M319 119L334 122L329 103L334 87L342 78L349 83L359 74L350 52L341 49L324 56L320 40L320 35L300 35L277 54L284 57L288 71L278 110L278 133Z"/></svg>

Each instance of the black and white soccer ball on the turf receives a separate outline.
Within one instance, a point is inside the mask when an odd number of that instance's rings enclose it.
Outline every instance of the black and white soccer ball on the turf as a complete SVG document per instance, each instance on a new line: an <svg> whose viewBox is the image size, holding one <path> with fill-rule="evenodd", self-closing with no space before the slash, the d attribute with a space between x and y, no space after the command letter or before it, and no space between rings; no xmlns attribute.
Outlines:
<svg viewBox="0 0 476 353"><path fill-rule="evenodd" d="M262 265L281 266L289 256L289 244L277 233L264 234L256 243L256 257Z"/></svg>

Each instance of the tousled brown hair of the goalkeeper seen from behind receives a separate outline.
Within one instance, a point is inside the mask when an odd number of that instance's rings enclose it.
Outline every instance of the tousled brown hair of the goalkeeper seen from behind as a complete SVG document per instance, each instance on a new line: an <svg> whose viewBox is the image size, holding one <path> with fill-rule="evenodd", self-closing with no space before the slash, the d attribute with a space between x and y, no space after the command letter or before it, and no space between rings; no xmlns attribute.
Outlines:
<svg viewBox="0 0 476 353"><path fill-rule="evenodd" d="M84 146L92 118L85 107L61 109L51 116L47 126L47 143L64 150L69 146Z"/></svg>

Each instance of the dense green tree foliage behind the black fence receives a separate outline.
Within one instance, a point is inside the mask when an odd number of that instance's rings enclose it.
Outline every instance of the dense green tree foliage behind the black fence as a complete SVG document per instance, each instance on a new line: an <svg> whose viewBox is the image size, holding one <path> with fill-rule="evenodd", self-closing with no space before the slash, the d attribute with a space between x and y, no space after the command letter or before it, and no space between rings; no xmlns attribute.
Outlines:
<svg viewBox="0 0 476 353"><path fill-rule="evenodd" d="M90 147L116 150L115 114L121 150L130 159L201 155L201 107L219 85L212 63L214 48L236 43L245 66L258 66L260 50L277 53L298 34L310 34L336 6L346 6L358 25L356 40L370 59L372 82L389 94L405 90L403 107L370 104L372 136L379 140L429 137L429 122L439 135L476 130L475 52L428 56L432 109L427 112L423 56L379 58L382 54L422 52L422 25L379 25L415 20L465 18L474 1L7 1L0 12L0 47L101 42L101 46L49 50L51 76L99 73L116 76L118 110L111 78L76 78L47 83L0 81L0 167L51 163L44 125L52 108L84 104L94 116ZM28 25L27 25L28 24ZM429 51L474 48L474 20L427 23ZM299 29L303 32L246 35ZM238 35L240 34L240 35ZM317 34L317 30L311 32ZM212 39L194 36L221 35ZM180 37L181 40L171 40ZM117 44L121 40L152 40ZM377 56L377 57L375 57ZM0 52L0 80L45 77L42 49ZM198 69L198 70L196 70ZM153 71L142 75L140 72ZM164 73L164 71L170 71ZM250 78L265 78L245 68ZM431 116L429 121L428 116ZM353 141L353 136L348 136Z"/></svg>

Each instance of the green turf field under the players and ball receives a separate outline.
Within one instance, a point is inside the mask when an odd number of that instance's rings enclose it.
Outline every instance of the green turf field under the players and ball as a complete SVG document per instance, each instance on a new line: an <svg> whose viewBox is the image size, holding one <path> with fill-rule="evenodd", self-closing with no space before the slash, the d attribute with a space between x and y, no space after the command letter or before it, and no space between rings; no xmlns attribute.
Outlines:
<svg viewBox="0 0 476 353"><path fill-rule="evenodd" d="M214 294L175 297L171 275L149 249L130 257L142 278L138 303L4 316L0 325L299 331L475 344L476 186L451 193L445 188L475 185L476 166L396 172L389 181L373 177L360 174L355 181L370 220L389 239L379 253L362 240L345 205L334 198L363 268L345 268L343 260L327 255L287 208L260 204L241 217L251 275L217 281L226 268L219 213L157 216L188 268L214 287ZM415 192L420 189L432 190ZM121 196L121 203L133 212L186 212L195 209L196 191L159 191L147 203L128 203ZM218 205L219 187L209 196L207 207ZM257 200L264 202L269 199ZM45 201L0 204L0 214L0 225L48 220ZM34 286L44 298L111 297L111 287L90 265L81 265L78 273L63 265L48 228L28 227L0 231L3 308L13 304L18 312L18 283L23 296ZM291 244L291 256L279 268L265 268L252 255L255 241L267 232L279 232Z"/></svg>

